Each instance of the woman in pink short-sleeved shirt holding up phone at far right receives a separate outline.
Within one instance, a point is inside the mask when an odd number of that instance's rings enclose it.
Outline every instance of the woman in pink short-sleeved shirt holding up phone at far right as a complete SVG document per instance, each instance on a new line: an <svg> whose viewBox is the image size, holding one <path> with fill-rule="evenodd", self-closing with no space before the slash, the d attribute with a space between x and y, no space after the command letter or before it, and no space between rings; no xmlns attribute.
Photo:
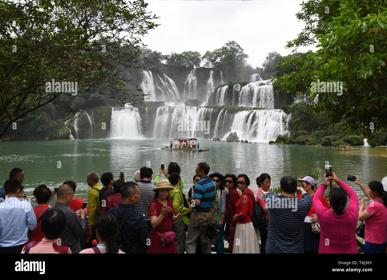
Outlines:
<svg viewBox="0 0 387 280"><path fill-rule="evenodd" d="M355 184L358 184L364 194L371 200L365 207L362 199L359 202L359 220L365 221L364 253L385 254L387 247L387 192L383 190L382 183L372 181L368 183L368 189L360 183L358 176Z"/></svg>

